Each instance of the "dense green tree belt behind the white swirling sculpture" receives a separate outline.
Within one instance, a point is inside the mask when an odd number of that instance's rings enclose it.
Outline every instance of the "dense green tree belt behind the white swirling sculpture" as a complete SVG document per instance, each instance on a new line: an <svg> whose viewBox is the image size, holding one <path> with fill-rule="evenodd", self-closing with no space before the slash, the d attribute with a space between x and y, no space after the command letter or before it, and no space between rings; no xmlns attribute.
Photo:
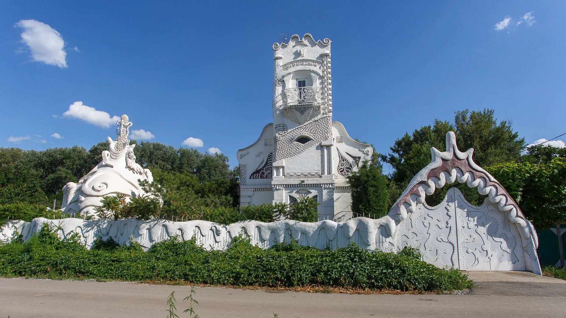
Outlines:
<svg viewBox="0 0 566 318"><path fill-rule="evenodd" d="M79 146L42 151L0 147L0 204L19 201L50 207L55 199L60 208L63 186L86 175L107 149L108 142L88 151ZM239 202L238 168L231 169L225 155L157 142L141 142L135 153L137 162L151 169L156 184L174 192L172 210L233 207Z"/></svg>

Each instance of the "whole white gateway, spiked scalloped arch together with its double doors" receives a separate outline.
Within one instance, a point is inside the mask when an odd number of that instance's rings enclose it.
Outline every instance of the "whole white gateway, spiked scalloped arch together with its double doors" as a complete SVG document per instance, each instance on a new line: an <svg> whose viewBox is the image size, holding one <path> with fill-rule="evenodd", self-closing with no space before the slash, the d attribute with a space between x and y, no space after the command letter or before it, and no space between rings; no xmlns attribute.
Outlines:
<svg viewBox="0 0 566 318"><path fill-rule="evenodd" d="M431 163L415 175L389 211L396 223L396 249L417 247L424 261L439 267L541 275L537 233L517 203L473 162L473 149L458 150L453 132L446 134L446 149L431 148ZM451 188L438 206L426 204L427 195L454 182L477 188L488 198L476 207Z"/></svg>

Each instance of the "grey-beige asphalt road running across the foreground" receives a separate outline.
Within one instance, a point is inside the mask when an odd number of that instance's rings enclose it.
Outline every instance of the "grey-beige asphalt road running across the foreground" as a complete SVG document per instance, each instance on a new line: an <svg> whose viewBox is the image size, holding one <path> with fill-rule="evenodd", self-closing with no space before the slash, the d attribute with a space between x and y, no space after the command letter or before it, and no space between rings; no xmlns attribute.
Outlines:
<svg viewBox="0 0 566 318"><path fill-rule="evenodd" d="M516 276L516 277L515 277ZM511 277L511 278L509 278ZM348 295L197 287L199 317L563 317L565 281L479 275L468 295ZM474 276L472 276L474 278ZM0 278L0 317L166 317L188 286Z"/></svg>

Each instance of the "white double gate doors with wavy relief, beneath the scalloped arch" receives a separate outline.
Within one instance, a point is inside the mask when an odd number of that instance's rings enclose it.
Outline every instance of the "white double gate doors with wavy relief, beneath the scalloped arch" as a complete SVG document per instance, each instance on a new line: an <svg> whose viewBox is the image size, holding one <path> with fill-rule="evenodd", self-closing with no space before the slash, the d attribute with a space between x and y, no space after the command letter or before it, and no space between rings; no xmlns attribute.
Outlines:
<svg viewBox="0 0 566 318"><path fill-rule="evenodd" d="M397 247L413 246L422 259L438 267L465 271L524 271L525 259L517 226L495 204L481 207L451 188L435 207L415 206L397 228Z"/></svg>

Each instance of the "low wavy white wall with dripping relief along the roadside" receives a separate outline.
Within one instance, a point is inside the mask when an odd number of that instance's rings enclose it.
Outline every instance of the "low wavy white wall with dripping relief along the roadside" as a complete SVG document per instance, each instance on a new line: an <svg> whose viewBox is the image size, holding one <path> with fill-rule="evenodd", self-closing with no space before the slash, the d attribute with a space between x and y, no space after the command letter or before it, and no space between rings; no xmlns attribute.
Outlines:
<svg viewBox="0 0 566 318"><path fill-rule="evenodd" d="M282 220L272 223L243 221L229 225L220 225L209 221L174 222L168 220L144 221L138 219L111 220L101 219L85 221L83 219L49 220L38 217L31 222L8 221L0 228L0 239L11 239L16 233L22 234L24 241L41 229L43 224L50 224L58 229L59 236L65 238L72 233L79 233L82 242L91 248L97 237L112 237L120 245L128 244L130 238L140 243L144 249L153 244L178 236L188 240L196 238L198 245L205 249L222 250L228 247L233 237L244 234L251 243L268 248L275 243L291 242L299 245L314 246L318 249L337 249L355 242L362 249L393 250L392 233L395 222L390 217L379 220L357 217L337 223L331 220L316 223Z"/></svg>

